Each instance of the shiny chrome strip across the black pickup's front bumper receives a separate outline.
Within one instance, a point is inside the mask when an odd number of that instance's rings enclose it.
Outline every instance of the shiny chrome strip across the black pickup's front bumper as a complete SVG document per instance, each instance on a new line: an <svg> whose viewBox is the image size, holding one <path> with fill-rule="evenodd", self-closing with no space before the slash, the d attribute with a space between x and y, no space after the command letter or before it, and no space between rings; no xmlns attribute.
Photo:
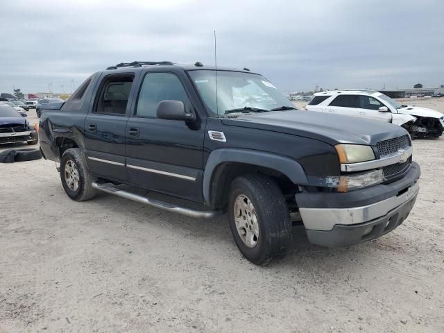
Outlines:
<svg viewBox="0 0 444 333"><path fill-rule="evenodd" d="M330 231L335 224L358 224L386 215L396 207L418 195L419 182L401 194L371 205L351 208L300 208L305 229Z"/></svg>

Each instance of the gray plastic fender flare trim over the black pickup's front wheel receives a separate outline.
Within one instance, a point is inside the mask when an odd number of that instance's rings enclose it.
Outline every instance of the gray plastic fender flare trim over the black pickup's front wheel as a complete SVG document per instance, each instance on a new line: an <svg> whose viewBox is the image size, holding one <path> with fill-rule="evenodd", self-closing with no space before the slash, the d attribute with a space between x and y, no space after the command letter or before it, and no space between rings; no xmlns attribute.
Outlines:
<svg viewBox="0 0 444 333"><path fill-rule="evenodd" d="M279 171L287 176L294 184L308 185L307 176L302 166L289 157L266 153L262 151L252 151L249 149L221 148L210 153L203 173L203 198L205 203L210 203L210 191L212 187L212 176L220 164L227 162L238 162L253 164L259 167L266 167Z"/></svg>

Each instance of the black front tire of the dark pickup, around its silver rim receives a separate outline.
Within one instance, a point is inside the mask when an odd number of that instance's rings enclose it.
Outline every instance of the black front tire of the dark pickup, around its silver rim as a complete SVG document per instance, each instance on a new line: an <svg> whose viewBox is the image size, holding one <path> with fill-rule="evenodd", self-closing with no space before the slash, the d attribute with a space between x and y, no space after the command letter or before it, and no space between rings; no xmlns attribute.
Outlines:
<svg viewBox="0 0 444 333"><path fill-rule="evenodd" d="M254 247L247 246L237 231L234 207L237 198L241 198L239 196L248 197L255 208L259 237ZM234 179L230 185L227 209L234 241L246 259L262 265L273 258L284 257L291 243L290 213L282 191L271 178L248 174Z"/></svg>

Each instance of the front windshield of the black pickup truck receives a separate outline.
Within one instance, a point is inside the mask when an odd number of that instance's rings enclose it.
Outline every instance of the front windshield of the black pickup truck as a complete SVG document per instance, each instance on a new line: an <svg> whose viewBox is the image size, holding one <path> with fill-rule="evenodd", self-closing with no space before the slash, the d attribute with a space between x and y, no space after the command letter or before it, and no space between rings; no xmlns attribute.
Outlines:
<svg viewBox="0 0 444 333"><path fill-rule="evenodd" d="M224 116L225 113L264 112L271 109L296 109L273 84L258 74L239 71L189 71L207 109L214 115ZM242 110L244 109L244 110Z"/></svg>

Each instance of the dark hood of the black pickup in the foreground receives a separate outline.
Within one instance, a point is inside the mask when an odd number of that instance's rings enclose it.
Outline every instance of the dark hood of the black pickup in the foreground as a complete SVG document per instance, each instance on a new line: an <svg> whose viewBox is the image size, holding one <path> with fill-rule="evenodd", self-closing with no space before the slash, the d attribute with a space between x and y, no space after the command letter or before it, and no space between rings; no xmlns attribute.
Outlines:
<svg viewBox="0 0 444 333"><path fill-rule="evenodd" d="M407 130L391 123L302 110L241 114L236 118L223 118L222 122L228 126L309 137L332 145L375 145L379 141L408 135Z"/></svg>

